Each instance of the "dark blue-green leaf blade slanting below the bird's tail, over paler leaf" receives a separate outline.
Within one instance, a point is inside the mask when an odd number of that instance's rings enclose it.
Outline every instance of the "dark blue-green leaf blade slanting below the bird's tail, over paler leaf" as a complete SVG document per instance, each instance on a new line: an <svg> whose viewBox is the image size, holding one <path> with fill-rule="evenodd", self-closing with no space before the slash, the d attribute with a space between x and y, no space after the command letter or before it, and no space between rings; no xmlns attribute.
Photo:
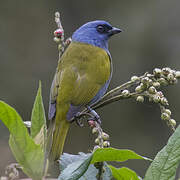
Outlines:
<svg viewBox="0 0 180 180"><path fill-rule="evenodd" d="M77 180L79 179L88 169L92 159L92 154L86 155L86 158L81 158L75 161L62 171L58 180Z"/></svg>

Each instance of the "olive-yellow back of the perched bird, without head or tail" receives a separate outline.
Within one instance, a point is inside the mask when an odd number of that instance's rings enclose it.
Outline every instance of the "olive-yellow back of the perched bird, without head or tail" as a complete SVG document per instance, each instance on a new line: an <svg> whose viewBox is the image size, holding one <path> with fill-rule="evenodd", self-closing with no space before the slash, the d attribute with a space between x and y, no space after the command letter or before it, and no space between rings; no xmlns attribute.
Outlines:
<svg viewBox="0 0 180 180"><path fill-rule="evenodd" d="M60 89L68 86L68 92L63 91L70 97L68 101L73 105L83 105L90 102L109 79L111 62L102 48L72 42L58 64L58 72L63 74Z"/></svg>

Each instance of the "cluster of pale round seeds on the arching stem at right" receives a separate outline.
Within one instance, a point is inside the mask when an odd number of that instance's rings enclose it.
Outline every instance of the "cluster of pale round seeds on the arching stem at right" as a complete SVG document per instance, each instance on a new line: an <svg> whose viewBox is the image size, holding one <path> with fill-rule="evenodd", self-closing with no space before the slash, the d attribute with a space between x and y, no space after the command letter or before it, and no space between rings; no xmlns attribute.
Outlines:
<svg viewBox="0 0 180 180"><path fill-rule="evenodd" d="M171 118L171 111L166 108L169 103L160 88L176 84L179 78L180 71L172 70L169 67L155 68L152 74L146 73L141 78L138 76L131 77L131 81L137 84L135 88L136 95L134 96L136 101L144 102L145 98L147 98L150 102L158 103L161 108L161 119L165 120L172 129L175 129L176 121ZM126 92L124 94L127 96L128 90L123 91ZM131 95L130 92L129 95Z"/></svg>

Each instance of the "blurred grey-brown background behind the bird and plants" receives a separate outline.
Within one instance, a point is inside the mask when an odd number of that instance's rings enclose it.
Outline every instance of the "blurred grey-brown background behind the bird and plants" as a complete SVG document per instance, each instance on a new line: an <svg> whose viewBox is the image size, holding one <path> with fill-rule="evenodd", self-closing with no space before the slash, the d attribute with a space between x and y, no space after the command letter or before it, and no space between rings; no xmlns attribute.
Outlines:
<svg viewBox="0 0 180 180"><path fill-rule="evenodd" d="M47 112L49 89L57 66L57 45L53 42L54 12L62 14L66 37L87 21L103 19L124 30L109 47L114 73L110 89L132 75L155 67L180 70L179 0L1 0L0 1L0 99L30 120L33 101L42 80ZM180 119L180 84L165 89L173 118ZM124 100L98 110L111 145L129 148L153 158L166 144L171 130L160 119L157 105ZM0 175L14 162L8 147L9 133L0 121ZM88 152L94 137L88 127L72 125L65 152ZM122 165L122 164L119 164ZM124 165L140 176L148 162L136 160Z"/></svg>

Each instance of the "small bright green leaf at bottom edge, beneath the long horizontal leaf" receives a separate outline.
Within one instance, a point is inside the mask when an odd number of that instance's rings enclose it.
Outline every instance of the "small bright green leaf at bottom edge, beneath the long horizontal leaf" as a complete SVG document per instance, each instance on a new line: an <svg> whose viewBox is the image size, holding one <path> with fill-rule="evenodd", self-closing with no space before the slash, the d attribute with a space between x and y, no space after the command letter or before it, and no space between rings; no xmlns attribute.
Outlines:
<svg viewBox="0 0 180 180"><path fill-rule="evenodd" d="M122 167L118 169L111 165L109 165L109 167L112 171L113 177L116 180L140 180L137 174L127 167Z"/></svg>

